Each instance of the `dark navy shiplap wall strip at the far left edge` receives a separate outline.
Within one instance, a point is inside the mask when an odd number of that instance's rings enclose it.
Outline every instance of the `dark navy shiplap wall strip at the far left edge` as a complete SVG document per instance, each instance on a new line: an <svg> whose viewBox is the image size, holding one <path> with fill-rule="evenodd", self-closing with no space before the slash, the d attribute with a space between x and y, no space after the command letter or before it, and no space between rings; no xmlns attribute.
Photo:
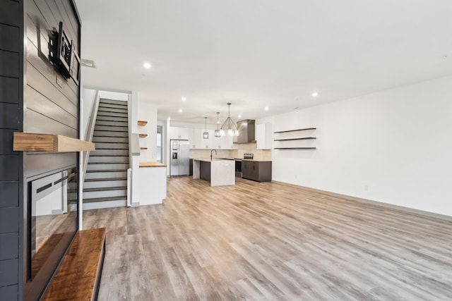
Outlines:
<svg viewBox="0 0 452 301"><path fill-rule="evenodd" d="M0 299L22 299L23 1L0 1Z"/></svg>

